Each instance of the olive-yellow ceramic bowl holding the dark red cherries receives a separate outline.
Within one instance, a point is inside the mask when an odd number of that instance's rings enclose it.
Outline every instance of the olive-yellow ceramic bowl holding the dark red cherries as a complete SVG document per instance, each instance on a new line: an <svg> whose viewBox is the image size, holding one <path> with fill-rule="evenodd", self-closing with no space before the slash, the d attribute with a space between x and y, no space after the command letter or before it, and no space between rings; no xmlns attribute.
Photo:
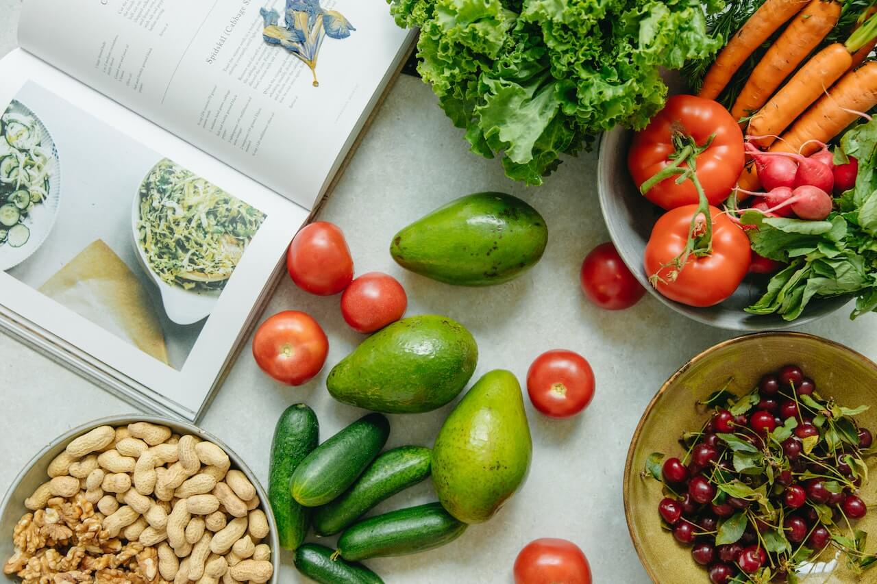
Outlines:
<svg viewBox="0 0 877 584"><path fill-rule="evenodd" d="M688 361L660 388L645 409L631 441L624 468L624 513L633 545L645 571L655 582L709 583L706 570L695 564L691 548L680 545L669 531L661 529L658 502L661 484L643 478L641 471L652 452L667 457L682 453L677 442L684 431L699 428L706 419L706 408L696 405L730 380L729 389L743 395L753 388L762 374L794 363L816 382L823 397L833 396L850 407L870 404L871 410L856 417L860 425L877 430L877 365L844 345L795 332L765 332L734 338L713 346ZM866 460L872 471L877 459ZM863 489L866 502L877 500L877 481ZM877 533L877 512L858 522L858 529ZM867 552L877 551L871 538ZM841 584L874 581L873 572L857 580L836 558L834 548L826 551L802 574L802 584Z"/></svg>

